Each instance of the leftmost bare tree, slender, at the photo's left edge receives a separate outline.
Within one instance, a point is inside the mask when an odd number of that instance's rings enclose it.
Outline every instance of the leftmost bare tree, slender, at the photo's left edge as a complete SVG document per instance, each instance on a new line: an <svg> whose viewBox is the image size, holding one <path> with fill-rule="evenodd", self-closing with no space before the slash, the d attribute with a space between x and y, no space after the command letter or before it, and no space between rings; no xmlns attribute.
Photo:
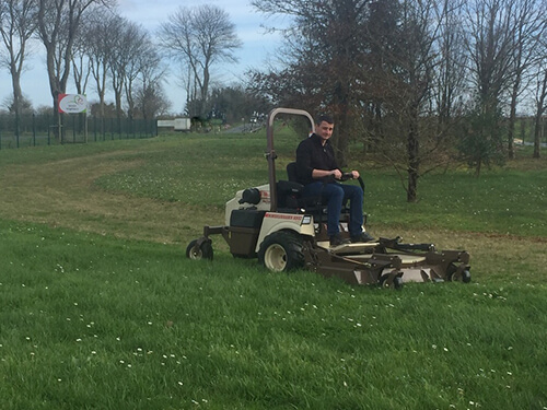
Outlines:
<svg viewBox="0 0 547 410"><path fill-rule="evenodd" d="M7 54L0 55L0 63L11 74L13 90L12 109L19 127L19 116L23 103L21 74L25 58L30 54L28 40L36 30L36 0L2 0L0 2L0 35ZM16 130L19 134L19 129Z"/></svg>

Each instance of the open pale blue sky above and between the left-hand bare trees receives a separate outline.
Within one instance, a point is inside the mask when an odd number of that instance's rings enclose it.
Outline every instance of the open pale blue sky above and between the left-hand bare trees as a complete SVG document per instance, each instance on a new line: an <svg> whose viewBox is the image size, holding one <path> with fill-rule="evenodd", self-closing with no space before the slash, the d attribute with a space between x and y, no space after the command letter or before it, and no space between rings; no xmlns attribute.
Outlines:
<svg viewBox="0 0 547 410"><path fill-rule="evenodd" d="M280 25L282 20L267 19L264 14L256 12L248 4L248 0L209 0L207 3L218 5L230 14L231 21L236 26L237 36L243 42L243 48L236 52L240 62L217 67L213 73L216 80L229 84L237 81L247 69L259 68L267 60L275 60L275 51L280 43L279 36L265 34L261 25ZM167 21L168 15L179 7L193 8L200 4L203 2L194 0L118 0L118 12L126 19L141 24L153 35L159 25ZM34 58L27 61L27 70L23 72L21 79L23 94L32 101L35 108L51 104L43 48L42 44L35 45ZM186 97L178 85L175 70L176 67L173 66L173 73L166 78L164 90L173 103L172 110L181 113ZM75 93L71 81L67 86L67 93ZM2 106L4 99L11 94L11 78L2 68L0 71L0 104ZM88 85L88 95L90 101L98 99L92 84Z"/></svg>

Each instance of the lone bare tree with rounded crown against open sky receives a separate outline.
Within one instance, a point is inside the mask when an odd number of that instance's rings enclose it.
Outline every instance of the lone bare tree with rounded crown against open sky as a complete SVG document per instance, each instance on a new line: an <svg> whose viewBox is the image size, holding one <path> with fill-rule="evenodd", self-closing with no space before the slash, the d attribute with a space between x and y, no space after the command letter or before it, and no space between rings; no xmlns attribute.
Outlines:
<svg viewBox="0 0 547 410"><path fill-rule="evenodd" d="M161 46L166 54L181 61L191 79L187 84L197 84L199 108L193 115L202 116L211 82L211 68L220 62L235 62L234 50L242 43L229 14L216 5L193 9L179 8L159 31ZM183 70L184 71L184 70ZM191 90L188 87L188 94Z"/></svg>

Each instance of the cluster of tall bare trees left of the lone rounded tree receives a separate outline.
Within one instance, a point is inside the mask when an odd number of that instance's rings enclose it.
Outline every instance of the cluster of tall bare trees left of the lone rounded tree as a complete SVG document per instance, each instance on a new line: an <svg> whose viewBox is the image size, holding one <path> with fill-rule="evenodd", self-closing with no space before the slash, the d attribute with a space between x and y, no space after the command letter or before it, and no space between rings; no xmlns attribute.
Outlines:
<svg viewBox="0 0 547 410"><path fill-rule="evenodd" d="M45 50L55 115L58 95L67 92L69 81L80 94L94 85L100 114L107 90L114 92L118 118L123 113L149 118L165 109L163 68L151 36L117 14L115 5L115 0L2 0L0 62L12 78L10 110L15 116L31 107L21 74L38 46Z"/></svg>

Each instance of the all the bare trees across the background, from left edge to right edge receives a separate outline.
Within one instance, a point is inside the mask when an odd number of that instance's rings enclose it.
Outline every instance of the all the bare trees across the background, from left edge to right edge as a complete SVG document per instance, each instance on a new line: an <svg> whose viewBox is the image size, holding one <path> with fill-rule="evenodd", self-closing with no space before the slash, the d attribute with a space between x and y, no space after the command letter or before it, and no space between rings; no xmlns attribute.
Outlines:
<svg viewBox="0 0 547 410"><path fill-rule="evenodd" d="M154 35L119 15L116 0L2 0L0 63L12 78L12 112L25 105L21 74L33 45L46 50L57 96L69 80L93 86L98 115L152 118L174 61L193 117L229 119L283 105L328 110L345 163L350 136L397 169L408 201L419 178L457 154L474 166L514 155L517 108L534 117L540 154L547 108L547 0L252 0L290 16L275 69L223 87L212 67L241 47L229 14L181 7ZM287 20L284 20L287 22ZM275 30L275 27L272 27ZM105 102L114 94L114 107ZM230 113L230 114L226 114Z"/></svg>

